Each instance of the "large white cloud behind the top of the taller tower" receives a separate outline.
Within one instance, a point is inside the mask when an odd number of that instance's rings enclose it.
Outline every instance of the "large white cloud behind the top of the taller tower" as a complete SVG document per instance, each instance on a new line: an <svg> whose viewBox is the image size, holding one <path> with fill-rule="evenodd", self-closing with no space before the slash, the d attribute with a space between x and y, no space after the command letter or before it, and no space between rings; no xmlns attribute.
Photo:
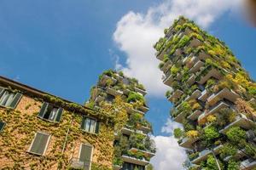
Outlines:
<svg viewBox="0 0 256 170"><path fill-rule="evenodd" d="M165 0L148 8L146 14L129 12L119 20L113 40L126 54L126 65L118 67L126 75L137 77L146 86L149 95L163 96L166 86L161 81L154 57L153 45L163 36L179 15L185 15L203 27L217 20L224 12L237 7L241 0Z"/></svg>

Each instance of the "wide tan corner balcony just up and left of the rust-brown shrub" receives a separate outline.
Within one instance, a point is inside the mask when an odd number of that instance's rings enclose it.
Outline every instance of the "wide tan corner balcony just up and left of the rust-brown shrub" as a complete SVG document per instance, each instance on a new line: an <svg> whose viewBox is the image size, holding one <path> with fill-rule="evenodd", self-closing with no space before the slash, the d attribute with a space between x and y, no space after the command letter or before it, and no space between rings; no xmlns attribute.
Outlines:
<svg viewBox="0 0 256 170"><path fill-rule="evenodd" d="M238 94L236 94L236 92L234 92L233 90L224 88L224 89L220 90L217 94L212 94L207 99L207 102L210 106L215 105L219 100L222 100L222 99L228 99L229 101L235 103L236 99L239 97L240 96Z"/></svg>

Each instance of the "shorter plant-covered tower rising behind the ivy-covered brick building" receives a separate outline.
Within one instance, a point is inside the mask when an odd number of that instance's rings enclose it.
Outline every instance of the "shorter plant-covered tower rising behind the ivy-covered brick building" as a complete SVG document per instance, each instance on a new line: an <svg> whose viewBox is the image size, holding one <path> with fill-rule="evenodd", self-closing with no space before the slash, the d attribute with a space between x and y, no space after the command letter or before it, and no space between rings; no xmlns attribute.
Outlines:
<svg viewBox="0 0 256 170"><path fill-rule="evenodd" d="M144 170L154 156L154 141L148 136L152 128L144 118L149 110L145 94L146 90L137 79L112 70L104 71L96 86L91 88L90 105L102 109L107 105L116 111L119 126L115 129L114 170Z"/></svg>

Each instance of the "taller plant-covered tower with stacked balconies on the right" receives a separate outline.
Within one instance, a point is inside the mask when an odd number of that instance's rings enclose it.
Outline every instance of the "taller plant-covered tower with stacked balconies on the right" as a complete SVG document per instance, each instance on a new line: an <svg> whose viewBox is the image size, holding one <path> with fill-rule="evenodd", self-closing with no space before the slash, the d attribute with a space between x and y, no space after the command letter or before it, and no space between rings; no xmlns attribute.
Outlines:
<svg viewBox="0 0 256 170"><path fill-rule="evenodd" d="M230 48L180 17L154 45L188 169L256 167L256 84Z"/></svg>

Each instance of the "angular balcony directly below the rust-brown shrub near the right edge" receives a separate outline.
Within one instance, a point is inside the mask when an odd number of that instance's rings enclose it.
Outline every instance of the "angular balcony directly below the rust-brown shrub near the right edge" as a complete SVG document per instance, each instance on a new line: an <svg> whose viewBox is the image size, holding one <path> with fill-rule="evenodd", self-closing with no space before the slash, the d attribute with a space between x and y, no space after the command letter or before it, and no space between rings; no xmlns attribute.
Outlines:
<svg viewBox="0 0 256 170"><path fill-rule="evenodd" d="M231 122L229 125L220 130L219 133L226 133L230 130L231 127L242 127L245 129L251 129L255 125L255 122L248 119L247 116L239 114L236 116L235 122Z"/></svg>

